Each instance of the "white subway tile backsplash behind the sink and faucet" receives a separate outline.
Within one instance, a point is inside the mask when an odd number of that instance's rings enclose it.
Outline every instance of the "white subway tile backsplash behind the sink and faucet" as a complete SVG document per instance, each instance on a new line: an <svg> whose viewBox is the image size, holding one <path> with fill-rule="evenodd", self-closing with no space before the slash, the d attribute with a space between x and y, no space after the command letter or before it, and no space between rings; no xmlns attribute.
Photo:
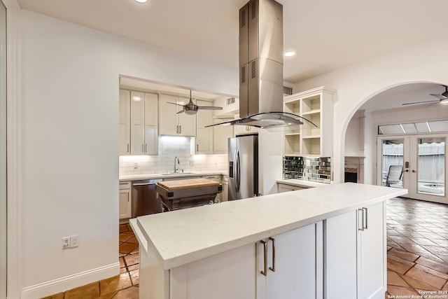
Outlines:
<svg viewBox="0 0 448 299"><path fill-rule="evenodd" d="M120 176L160 174L174 170L174 158L179 158L179 170L184 172L226 171L228 155L191 155L190 137L159 137L159 155L121 155Z"/></svg>

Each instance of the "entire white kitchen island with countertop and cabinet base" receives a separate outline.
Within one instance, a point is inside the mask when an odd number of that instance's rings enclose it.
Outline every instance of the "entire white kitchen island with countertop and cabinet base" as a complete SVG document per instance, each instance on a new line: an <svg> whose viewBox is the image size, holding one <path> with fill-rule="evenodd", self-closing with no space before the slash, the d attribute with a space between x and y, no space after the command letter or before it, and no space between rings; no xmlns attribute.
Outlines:
<svg viewBox="0 0 448 299"><path fill-rule="evenodd" d="M386 203L343 183L131 220L140 298L384 298Z"/></svg>

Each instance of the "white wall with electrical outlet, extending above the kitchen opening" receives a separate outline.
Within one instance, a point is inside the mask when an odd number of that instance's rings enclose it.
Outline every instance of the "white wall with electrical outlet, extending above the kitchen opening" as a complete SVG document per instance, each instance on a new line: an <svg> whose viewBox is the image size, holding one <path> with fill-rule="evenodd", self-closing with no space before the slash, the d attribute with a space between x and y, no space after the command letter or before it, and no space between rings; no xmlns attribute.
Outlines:
<svg viewBox="0 0 448 299"><path fill-rule="evenodd" d="M38 298L118 274L118 76L237 95L238 69L20 17L21 288ZM70 235L80 246L63 251Z"/></svg>

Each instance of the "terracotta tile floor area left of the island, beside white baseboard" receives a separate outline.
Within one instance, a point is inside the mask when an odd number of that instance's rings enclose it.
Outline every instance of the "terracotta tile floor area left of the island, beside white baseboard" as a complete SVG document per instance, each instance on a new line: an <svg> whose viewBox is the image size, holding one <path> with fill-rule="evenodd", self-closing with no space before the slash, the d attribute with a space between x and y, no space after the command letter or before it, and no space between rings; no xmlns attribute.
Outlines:
<svg viewBox="0 0 448 299"><path fill-rule="evenodd" d="M139 243L129 224L120 225L120 274L45 299L138 299Z"/></svg>

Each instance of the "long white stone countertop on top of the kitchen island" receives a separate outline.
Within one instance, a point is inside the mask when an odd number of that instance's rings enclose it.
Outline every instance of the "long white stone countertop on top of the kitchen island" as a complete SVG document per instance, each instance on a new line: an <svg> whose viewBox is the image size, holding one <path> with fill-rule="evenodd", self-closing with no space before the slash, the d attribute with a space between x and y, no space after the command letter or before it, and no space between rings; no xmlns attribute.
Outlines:
<svg viewBox="0 0 448 299"><path fill-rule="evenodd" d="M141 246L169 270L407 193L360 183L326 185L141 216L131 225Z"/></svg>

